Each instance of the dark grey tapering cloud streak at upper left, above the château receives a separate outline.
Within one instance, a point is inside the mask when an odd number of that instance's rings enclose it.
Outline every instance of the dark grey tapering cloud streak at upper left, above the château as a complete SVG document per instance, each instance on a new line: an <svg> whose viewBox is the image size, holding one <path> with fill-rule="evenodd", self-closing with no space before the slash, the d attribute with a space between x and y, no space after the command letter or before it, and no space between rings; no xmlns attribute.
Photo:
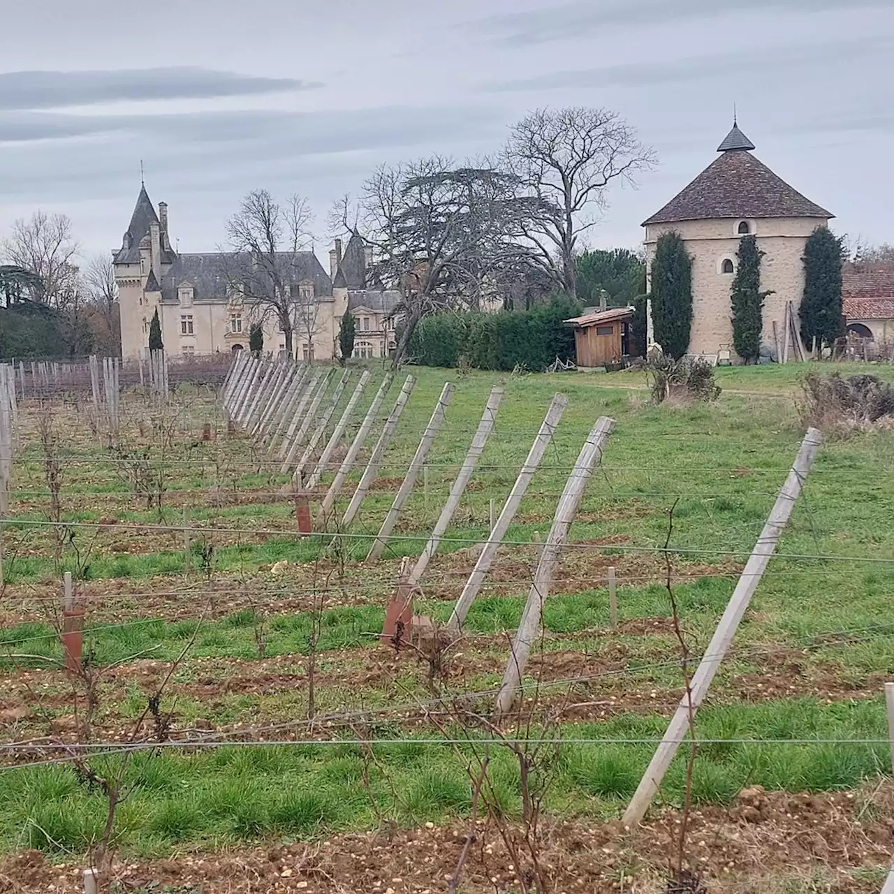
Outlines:
<svg viewBox="0 0 894 894"><path fill-rule="evenodd" d="M321 87L316 81L255 77L207 68L0 73L0 109L44 109L119 101L212 99Z"/></svg>

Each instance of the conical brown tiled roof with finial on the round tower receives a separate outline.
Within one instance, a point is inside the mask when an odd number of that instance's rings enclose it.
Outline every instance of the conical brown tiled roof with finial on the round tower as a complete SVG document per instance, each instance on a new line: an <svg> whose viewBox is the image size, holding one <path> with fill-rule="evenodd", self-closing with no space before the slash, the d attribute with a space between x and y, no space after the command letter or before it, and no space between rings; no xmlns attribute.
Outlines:
<svg viewBox="0 0 894 894"><path fill-rule="evenodd" d="M817 217L834 215L802 196L748 151L754 144L737 125L721 143L721 156L694 181L643 222L717 220L746 217Z"/></svg>

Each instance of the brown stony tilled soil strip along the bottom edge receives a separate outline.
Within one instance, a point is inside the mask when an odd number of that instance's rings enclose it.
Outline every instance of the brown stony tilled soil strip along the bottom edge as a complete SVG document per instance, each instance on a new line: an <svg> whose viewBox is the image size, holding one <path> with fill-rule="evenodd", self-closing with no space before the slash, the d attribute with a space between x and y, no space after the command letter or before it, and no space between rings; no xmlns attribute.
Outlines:
<svg viewBox="0 0 894 894"><path fill-rule="evenodd" d="M385 818L384 818L385 819ZM681 814L658 811L642 827L618 821L552 822L541 818L533 856L556 892L636 891L657 894L679 869ZM369 834L340 834L315 842L268 842L226 853L187 853L152 861L119 861L122 890L171 894L434 894L448 890L471 834L461 890L468 894L519 890L533 874L532 853L510 850L522 830L493 819L400 830L388 824ZM881 888L894 848L894 784L829 795L740 793L730 808L689 817L682 867L686 888L778 894L782 890L869 894ZM37 851L0 860L4 894L75 894L82 863L49 864Z"/></svg>

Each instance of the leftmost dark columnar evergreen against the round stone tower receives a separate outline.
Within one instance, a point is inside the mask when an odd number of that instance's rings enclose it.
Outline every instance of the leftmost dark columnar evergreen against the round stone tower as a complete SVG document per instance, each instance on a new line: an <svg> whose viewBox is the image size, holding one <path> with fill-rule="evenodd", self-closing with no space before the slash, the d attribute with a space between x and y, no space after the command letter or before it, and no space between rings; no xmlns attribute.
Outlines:
<svg viewBox="0 0 894 894"><path fill-rule="evenodd" d="M655 341L680 358L692 329L692 258L679 232L658 237L652 261L652 321Z"/></svg>

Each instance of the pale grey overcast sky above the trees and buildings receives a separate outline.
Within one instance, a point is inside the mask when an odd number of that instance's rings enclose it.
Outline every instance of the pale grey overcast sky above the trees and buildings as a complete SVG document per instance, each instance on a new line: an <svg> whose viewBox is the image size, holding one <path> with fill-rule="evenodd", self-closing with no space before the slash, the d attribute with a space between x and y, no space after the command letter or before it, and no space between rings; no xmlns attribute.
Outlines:
<svg viewBox="0 0 894 894"><path fill-rule="evenodd" d="M88 252L139 191L182 251L213 250L248 190L333 200L376 164L476 156L543 105L601 105L660 164L614 190L599 246L714 157L732 109L755 155L894 242L894 0L29 0L4 4L0 235L38 207ZM16 36L10 39L9 36Z"/></svg>

